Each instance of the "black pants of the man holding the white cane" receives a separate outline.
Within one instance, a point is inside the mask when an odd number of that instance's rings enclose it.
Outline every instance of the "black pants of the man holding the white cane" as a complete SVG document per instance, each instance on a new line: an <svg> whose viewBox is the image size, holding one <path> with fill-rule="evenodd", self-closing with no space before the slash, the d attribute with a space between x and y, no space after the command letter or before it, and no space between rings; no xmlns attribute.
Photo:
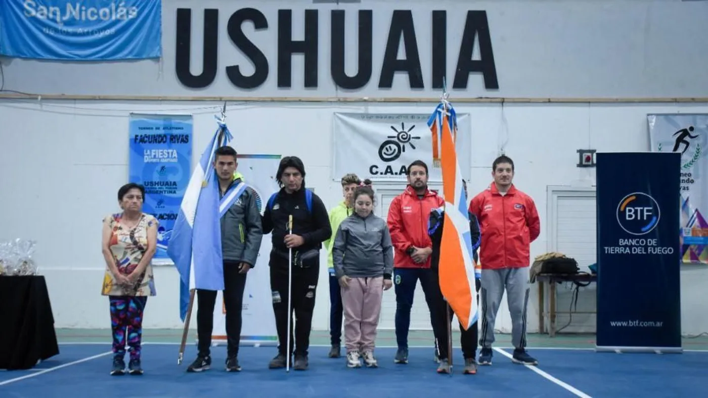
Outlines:
<svg viewBox="0 0 708 398"><path fill-rule="evenodd" d="M312 331L312 312L319 279L319 259L308 268L292 267L292 307L287 301L287 257L270 255L270 290L273 294L273 313L275 329L278 330L278 352L295 353L307 356L309 336ZM290 309L290 311L288 311ZM295 321L292 320L295 312ZM290 330L287 330L287 318L290 317ZM293 325L295 339L292 339ZM290 333L290 347L287 347L287 334ZM293 349L295 347L295 349Z"/></svg>

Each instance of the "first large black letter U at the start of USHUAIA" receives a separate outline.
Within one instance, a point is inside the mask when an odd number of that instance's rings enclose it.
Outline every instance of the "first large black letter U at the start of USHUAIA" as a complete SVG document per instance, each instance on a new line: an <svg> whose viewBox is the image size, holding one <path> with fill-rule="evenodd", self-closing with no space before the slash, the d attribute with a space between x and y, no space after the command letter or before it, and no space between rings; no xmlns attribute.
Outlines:
<svg viewBox="0 0 708 398"><path fill-rule="evenodd" d="M193 75L190 69L192 39L192 10L177 8L175 47L175 71L178 80L189 88L205 88L217 76L217 50L219 43L219 10L204 10L204 50L202 54L202 73Z"/></svg>

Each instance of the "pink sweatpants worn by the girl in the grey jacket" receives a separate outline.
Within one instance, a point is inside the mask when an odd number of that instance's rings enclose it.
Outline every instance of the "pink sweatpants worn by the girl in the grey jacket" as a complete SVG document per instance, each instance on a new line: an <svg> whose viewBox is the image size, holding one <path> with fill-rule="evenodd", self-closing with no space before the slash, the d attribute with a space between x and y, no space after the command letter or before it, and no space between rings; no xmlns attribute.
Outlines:
<svg viewBox="0 0 708 398"><path fill-rule="evenodd" d="M341 289L347 352L374 351L381 299L384 295L384 277L352 278L349 286Z"/></svg>

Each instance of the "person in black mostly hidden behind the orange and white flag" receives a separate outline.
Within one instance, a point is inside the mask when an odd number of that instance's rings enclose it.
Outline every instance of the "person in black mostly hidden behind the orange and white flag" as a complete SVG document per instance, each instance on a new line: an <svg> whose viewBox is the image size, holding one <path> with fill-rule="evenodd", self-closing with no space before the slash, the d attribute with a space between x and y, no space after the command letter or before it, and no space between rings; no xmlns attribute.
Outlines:
<svg viewBox="0 0 708 398"><path fill-rule="evenodd" d="M474 250L474 261L477 260L476 248L479 247L479 223L477 222L474 214L469 214L469 231L472 240L472 249ZM447 309L450 305L447 304L445 298L442 296L440 291L440 281L438 279L438 270L440 264L440 242L442 240L442 226L444 225L445 217L444 212L439 209L433 209L430 211L430 219L428 221L428 233L430 235L430 240L433 241L433 253L430 254L430 268L435 270L433 273L433 282L435 286L438 287L438 294L435 295L433 300L435 301L435 324L433 325L433 334L435 334L436 346L438 349L438 358L440 358L440 365L438 366L438 373L450 373L450 353L447 351ZM480 281L479 278L475 277L474 280L475 289L479 293ZM479 294L477 294L477 299L479 300ZM450 320L452 320L452 308L450 308ZM459 322L458 322L459 323ZM462 346L462 356L464 357L464 369L462 370L465 374L475 374L477 371L476 367L476 351L477 351L477 337L479 334L477 322L474 322L469 329L464 330L462 324L459 324L459 343Z"/></svg>

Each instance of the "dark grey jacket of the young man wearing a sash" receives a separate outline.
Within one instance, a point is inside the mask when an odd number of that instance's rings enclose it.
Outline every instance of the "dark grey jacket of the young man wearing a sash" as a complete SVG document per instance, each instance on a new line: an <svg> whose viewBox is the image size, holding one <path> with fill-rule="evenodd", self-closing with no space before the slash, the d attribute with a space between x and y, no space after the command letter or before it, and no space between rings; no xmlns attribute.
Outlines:
<svg viewBox="0 0 708 398"><path fill-rule="evenodd" d="M236 179L232 188L241 182ZM239 199L221 218L222 255L227 262L246 262L251 268L256 266L258 251L261 250L263 228L261 213L256 206L256 193L246 187Z"/></svg>

